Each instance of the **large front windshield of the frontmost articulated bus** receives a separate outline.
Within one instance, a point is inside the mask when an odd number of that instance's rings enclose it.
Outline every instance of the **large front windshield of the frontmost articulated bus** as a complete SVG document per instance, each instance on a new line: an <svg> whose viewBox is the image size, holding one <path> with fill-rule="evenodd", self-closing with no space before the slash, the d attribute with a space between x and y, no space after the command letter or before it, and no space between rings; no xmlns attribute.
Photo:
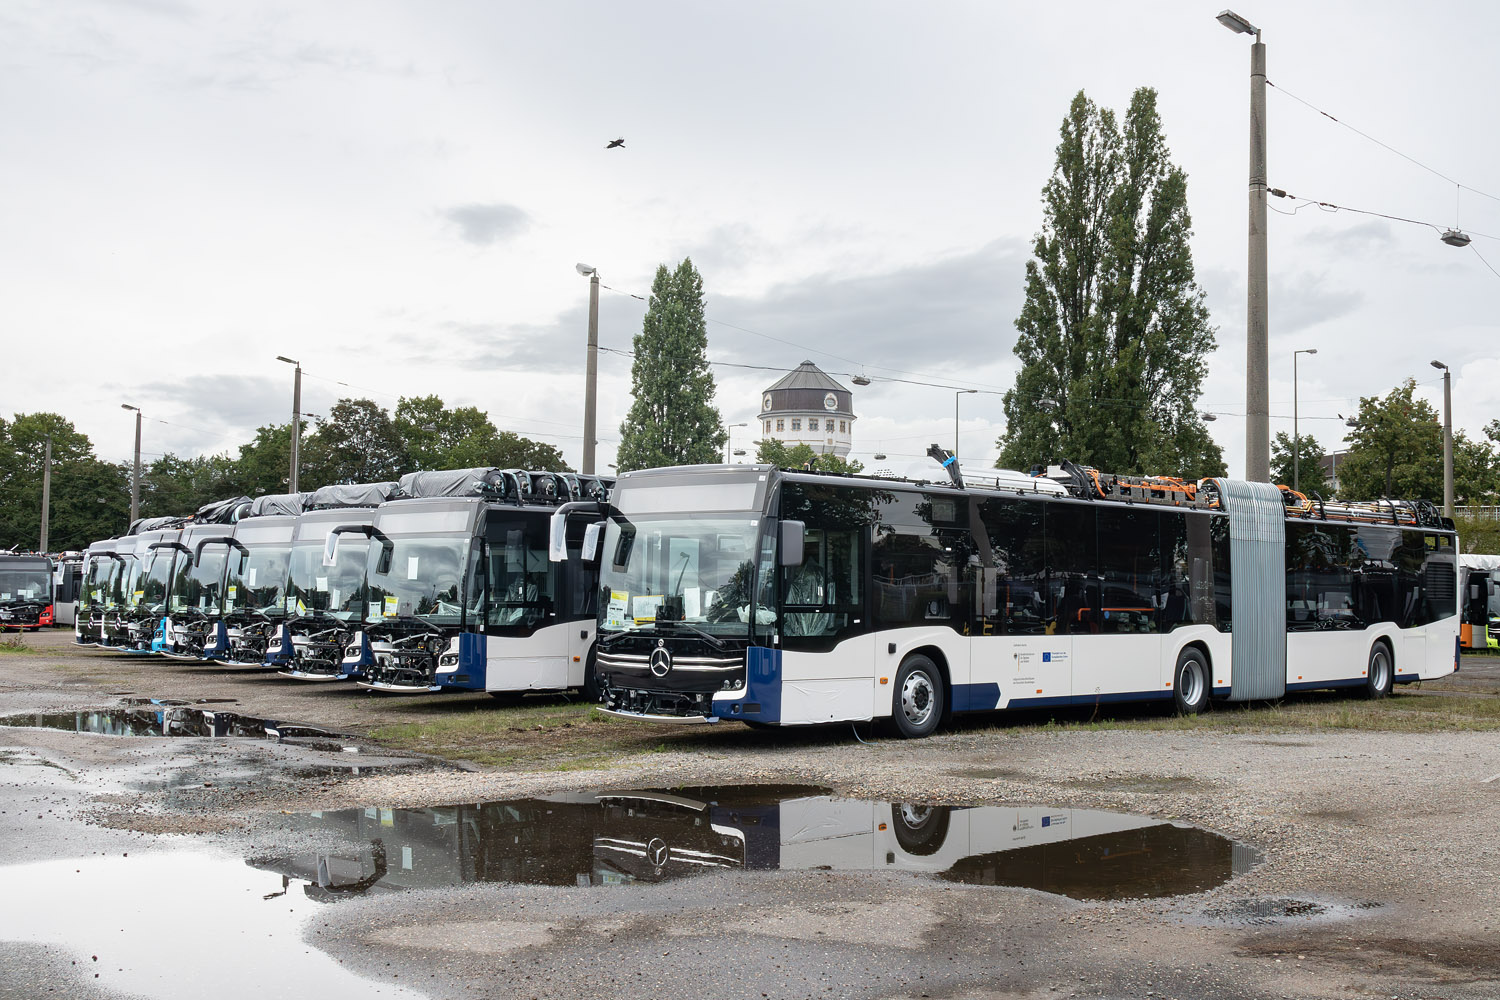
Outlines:
<svg viewBox="0 0 1500 1000"><path fill-rule="evenodd" d="M771 625L774 537L748 514L622 517L604 529L598 604L604 631L692 624L714 636L747 636L750 622ZM756 573L756 562L760 571Z"/></svg>

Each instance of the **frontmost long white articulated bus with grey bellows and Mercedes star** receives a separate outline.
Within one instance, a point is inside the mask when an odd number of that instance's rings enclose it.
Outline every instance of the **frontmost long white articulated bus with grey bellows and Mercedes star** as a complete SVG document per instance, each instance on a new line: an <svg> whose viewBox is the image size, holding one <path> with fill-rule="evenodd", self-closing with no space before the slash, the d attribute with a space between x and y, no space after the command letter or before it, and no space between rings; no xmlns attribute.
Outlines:
<svg viewBox="0 0 1500 1000"><path fill-rule="evenodd" d="M952 483L622 474L600 555L603 709L924 736L1006 708L1382 697L1458 666L1456 538L1431 504L1071 463L976 486L946 468Z"/></svg>

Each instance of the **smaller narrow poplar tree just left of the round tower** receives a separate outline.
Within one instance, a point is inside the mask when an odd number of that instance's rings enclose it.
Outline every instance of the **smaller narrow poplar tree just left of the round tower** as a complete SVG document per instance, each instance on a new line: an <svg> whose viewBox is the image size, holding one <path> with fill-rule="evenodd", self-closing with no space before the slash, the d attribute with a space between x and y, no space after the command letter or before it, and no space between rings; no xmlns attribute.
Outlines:
<svg viewBox="0 0 1500 1000"><path fill-rule="evenodd" d="M712 402L706 352L704 277L690 258L675 271L657 267L646 318L634 339L634 402L620 426L621 472L720 460L726 435Z"/></svg>

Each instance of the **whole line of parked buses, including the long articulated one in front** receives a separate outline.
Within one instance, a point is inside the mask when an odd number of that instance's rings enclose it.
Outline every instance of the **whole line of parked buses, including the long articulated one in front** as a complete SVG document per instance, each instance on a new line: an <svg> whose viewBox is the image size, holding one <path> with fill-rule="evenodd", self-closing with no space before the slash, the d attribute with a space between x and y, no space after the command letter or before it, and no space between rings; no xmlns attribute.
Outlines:
<svg viewBox="0 0 1500 1000"><path fill-rule="evenodd" d="M238 498L92 546L76 642L906 736L970 711L1382 697L1488 643L1488 571L1431 504L1071 463L980 483L933 454L928 481L460 469Z"/></svg>

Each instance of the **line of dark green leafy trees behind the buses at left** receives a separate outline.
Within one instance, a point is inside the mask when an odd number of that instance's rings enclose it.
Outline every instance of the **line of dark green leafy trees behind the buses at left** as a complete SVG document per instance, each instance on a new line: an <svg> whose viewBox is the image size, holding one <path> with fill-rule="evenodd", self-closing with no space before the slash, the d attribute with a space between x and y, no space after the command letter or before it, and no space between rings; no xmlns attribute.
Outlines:
<svg viewBox="0 0 1500 1000"><path fill-rule="evenodd" d="M42 463L52 438L48 547L81 549L123 531L130 517L129 462L104 462L87 435L58 414L0 418L0 549L40 540ZM394 414L369 399L340 399L304 427L298 487L399 478L416 469L472 466L564 471L554 445L496 430L477 406L448 408L436 396L402 397ZM285 493L291 423L268 424L238 454L164 454L141 466L141 516L188 514L226 496Z"/></svg>

